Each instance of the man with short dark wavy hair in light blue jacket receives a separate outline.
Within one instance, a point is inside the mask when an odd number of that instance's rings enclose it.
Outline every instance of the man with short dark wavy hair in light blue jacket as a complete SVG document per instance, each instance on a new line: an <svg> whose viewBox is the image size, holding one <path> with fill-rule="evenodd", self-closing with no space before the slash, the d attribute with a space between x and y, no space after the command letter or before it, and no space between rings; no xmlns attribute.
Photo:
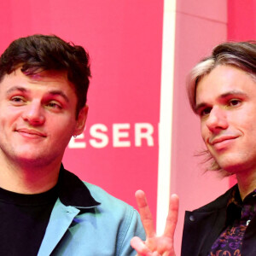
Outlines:
<svg viewBox="0 0 256 256"><path fill-rule="evenodd" d="M61 165L84 131L89 78L84 48L56 36L0 57L1 255L134 255L144 237L137 211Z"/></svg>

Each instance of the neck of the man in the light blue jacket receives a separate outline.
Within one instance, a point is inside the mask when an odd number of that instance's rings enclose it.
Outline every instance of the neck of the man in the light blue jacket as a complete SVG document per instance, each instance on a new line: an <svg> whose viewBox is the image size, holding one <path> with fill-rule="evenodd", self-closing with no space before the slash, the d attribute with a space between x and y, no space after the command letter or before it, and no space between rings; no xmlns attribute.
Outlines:
<svg viewBox="0 0 256 256"><path fill-rule="evenodd" d="M0 187L20 194L43 193L58 181L61 161L48 165L33 163L12 163L2 161L0 167Z"/></svg>

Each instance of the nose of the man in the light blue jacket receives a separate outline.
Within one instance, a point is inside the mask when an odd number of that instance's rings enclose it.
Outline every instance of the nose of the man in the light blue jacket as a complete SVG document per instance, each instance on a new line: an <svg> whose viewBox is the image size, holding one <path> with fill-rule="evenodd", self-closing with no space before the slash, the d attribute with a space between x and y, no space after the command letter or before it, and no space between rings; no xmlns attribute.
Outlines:
<svg viewBox="0 0 256 256"><path fill-rule="evenodd" d="M22 119L32 126L43 125L45 117L41 102L28 103L22 113Z"/></svg>

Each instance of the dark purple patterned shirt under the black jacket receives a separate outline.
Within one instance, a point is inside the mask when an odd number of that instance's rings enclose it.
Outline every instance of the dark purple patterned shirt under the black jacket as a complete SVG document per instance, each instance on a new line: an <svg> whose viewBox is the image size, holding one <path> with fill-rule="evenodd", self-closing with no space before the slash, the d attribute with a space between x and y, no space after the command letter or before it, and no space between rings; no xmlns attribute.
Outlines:
<svg viewBox="0 0 256 256"><path fill-rule="evenodd" d="M241 244L247 225L256 212L256 189L241 201L238 187L231 193L227 205L226 226L212 244L208 256L241 256Z"/></svg>

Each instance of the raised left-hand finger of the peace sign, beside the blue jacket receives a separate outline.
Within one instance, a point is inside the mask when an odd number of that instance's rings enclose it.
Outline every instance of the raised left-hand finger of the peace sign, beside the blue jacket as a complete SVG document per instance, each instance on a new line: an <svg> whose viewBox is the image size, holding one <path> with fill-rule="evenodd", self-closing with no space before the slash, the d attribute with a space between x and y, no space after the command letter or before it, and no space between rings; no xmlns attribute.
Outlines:
<svg viewBox="0 0 256 256"><path fill-rule="evenodd" d="M147 238L153 237L155 236L154 221L148 207L146 195L143 190L137 190L137 192L135 193L135 197L137 200L138 210L141 215L143 227L146 232Z"/></svg>

